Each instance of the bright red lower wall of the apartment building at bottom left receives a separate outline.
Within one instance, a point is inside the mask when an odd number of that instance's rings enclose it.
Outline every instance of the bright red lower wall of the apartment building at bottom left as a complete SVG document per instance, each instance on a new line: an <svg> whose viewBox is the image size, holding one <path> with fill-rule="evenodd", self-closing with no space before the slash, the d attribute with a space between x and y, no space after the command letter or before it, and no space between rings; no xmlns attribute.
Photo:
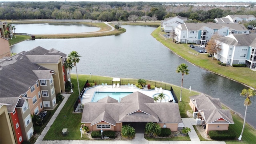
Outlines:
<svg viewBox="0 0 256 144"><path fill-rule="evenodd" d="M12 121L12 126L13 126L13 131L14 131L14 136L16 139L17 144L21 144L23 142L23 138L22 141L19 141L20 136L22 136L22 132L21 132L21 128L20 128L20 121L18 118L18 113L16 112L16 108L15 108L15 113L10 113L11 116L11 121ZM16 124L19 124L19 127L16 128Z"/></svg>

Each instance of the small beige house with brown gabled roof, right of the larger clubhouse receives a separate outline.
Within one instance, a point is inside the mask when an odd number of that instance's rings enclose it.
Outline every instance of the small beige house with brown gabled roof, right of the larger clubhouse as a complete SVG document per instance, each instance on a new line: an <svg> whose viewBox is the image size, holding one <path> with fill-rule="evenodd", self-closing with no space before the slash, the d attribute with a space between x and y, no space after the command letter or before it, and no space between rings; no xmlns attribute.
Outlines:
<svg viewBox="0 0 256 144"><path fill-rule="evenodd" d="M219 98L211 98L204 94L190 96L189 105L199 125L204 126L206 134L212 130L228 130L234 124L230 110L223 110Z"/></svg>

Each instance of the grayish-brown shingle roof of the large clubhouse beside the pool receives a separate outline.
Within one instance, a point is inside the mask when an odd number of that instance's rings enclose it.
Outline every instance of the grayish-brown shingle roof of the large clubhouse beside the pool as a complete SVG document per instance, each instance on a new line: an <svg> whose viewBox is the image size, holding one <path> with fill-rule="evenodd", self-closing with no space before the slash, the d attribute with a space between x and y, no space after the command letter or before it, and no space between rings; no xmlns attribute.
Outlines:
<svg viewBox="0 0 256 144"><path fill-rule="evenodd" d="M176 103L154 103L153 98L134 92L121 102L99 100L84 104L82 123L96 124L105 121L116 122L165 122L180 123L180 111Z"/></svg>

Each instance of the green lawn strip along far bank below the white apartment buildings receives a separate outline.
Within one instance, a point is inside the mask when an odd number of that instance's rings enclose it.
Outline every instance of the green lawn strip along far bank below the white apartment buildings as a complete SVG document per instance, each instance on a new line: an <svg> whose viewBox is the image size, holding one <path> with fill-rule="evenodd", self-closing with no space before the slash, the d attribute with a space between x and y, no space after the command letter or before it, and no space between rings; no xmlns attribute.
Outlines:
<svg viewBox="0 0 256 144"><path fill-rule="evenodd" d="M220 66L217 64L216 59L212 60L212 58L207 57L207 54L198 53L195 50L192 50L189 48L189 44L175 44L172 42L172 39L166 39L162 34L164 34L164 32L161 32L160 27L158 27L151 35L164 44L164 46L168 47L192 64L256 88L256 71L252 71L249 68ZM191 54L190 52L198 55Z"/></svg>

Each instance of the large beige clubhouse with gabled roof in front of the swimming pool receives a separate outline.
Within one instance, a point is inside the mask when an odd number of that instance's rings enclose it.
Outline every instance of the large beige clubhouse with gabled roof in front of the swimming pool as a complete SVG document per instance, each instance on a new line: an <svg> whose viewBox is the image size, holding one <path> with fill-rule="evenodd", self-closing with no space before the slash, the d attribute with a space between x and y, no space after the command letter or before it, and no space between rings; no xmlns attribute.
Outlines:
<svg viewBox="0 0 256 144"><path fill-rule="evenodd" d="M84 104L81 123L91 131L121 131L123 125L130 124L136 133L144 133L147 122L156 122L171 131L178 131L181 123L180 111L176 103L156 103L153 98L138 91L121 98L121 101L106 96L98 102Z"/></svg>

